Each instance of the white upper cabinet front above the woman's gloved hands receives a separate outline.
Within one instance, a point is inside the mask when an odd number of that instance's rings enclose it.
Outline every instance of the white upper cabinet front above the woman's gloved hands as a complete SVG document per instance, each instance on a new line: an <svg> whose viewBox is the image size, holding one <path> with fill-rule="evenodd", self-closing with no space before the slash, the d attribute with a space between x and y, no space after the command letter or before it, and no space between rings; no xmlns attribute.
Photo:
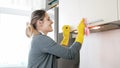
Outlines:
<svg viewBox="0 0 120 68"><path fill-rule="evenodd" d="M75 29L81 18L88 22L104 20L96 23L107 23L118 20L117 0L60 0L59 29L69 24Z"/></svg>

